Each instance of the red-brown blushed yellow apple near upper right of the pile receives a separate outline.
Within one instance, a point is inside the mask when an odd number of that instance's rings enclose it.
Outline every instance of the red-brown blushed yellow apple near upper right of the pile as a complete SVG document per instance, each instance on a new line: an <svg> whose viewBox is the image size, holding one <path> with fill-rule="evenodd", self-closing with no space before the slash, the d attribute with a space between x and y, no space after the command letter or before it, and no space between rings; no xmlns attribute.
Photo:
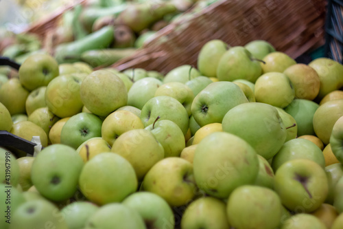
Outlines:
<svg viewBox="0 0 343 229"><path fill-rule="evenodd" d="M320 78L315 69L298 63L287 67L283 72L291 80L296 98L314 100L318 96L320 89Z"/></svg>

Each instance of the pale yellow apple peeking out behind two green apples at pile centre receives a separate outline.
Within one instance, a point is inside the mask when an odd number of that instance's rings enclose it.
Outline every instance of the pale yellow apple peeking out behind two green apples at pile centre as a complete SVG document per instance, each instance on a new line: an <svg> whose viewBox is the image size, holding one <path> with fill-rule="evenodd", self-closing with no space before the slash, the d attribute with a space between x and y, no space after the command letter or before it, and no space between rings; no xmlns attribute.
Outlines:
<svg viewBox="0 0 343 229"><path fill-rule="evenodd" d="M170 82L161 85L155 92L156 96L170 96L180 102L186 109L188 116L191 115L191 105L194 99L193 91L180 82Z"/></svg>

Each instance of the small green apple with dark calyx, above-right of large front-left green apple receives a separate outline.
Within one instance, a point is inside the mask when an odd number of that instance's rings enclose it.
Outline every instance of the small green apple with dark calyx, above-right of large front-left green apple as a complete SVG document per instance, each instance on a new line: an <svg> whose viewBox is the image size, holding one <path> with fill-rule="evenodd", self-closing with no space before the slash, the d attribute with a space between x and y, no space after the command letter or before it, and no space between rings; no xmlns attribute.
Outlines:
<svg viewBox="0 0 343 229"><path fill-rule="evenodd" d="M92 113L78 113L67 120L61 131L61 143L78 149L82 142L102 135L102 120Z"/></svg>

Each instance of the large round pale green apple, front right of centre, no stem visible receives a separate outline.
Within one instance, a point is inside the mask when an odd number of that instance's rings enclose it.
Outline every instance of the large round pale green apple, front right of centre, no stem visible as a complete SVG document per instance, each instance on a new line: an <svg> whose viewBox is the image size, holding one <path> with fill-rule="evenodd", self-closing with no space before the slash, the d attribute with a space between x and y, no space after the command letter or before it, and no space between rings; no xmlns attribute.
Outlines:
<svg viewBox="0 0 343 229"><path fill-rule="evenodd" d="M226 198L238 186L255 182L259 159L248 142L230 133L215 132L198 144L193 170L200 189Z"/></svg>

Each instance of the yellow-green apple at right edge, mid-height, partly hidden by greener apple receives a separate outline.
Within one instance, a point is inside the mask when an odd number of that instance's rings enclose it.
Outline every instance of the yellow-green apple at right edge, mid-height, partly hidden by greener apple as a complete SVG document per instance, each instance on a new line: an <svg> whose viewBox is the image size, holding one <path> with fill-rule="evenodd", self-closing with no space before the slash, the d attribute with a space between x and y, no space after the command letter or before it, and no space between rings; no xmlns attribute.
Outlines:
<svg viewBox="0 0 343 229"><path fill-rule="evenodd" d="M320 105L314 113L314 132L324 144L329 144L333 126L343 116L343 99Z"/></svg>

